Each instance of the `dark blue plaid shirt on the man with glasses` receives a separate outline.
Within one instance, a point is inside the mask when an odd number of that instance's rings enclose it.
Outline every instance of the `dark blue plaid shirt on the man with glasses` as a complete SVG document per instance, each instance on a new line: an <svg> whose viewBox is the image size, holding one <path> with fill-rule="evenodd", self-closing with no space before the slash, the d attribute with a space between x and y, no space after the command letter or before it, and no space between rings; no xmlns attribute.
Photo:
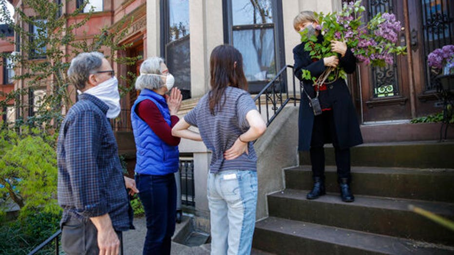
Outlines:
<svg viewBox="0 0 454 255"><path fill-rule="evenodd" d="M88 220L108 213L116 231L133 228L108 109L100 99L82 93L61 125L57 141L61 224L70 216Z"/></svg>

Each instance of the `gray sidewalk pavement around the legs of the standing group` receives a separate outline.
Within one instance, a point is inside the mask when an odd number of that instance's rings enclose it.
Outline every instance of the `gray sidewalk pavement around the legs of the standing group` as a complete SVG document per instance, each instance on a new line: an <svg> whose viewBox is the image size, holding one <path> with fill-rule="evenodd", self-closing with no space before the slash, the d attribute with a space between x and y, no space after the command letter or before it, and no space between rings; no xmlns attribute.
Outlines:
<svg viewBox="0 0 454 255"><path fill-rule="evenodd" d="M180 224L175 225L175 235L177 235L184 227L184 222L189 219L183 217ZM123 232L123 245L125 255L141 255L142 248L147 233L145 217L134 218L135 230ZM201 246L189 247L183 244L172 242L171 255L209 255L210 245L204 244ZM262 251L252 250L252 255L271 255Z"/></svg>

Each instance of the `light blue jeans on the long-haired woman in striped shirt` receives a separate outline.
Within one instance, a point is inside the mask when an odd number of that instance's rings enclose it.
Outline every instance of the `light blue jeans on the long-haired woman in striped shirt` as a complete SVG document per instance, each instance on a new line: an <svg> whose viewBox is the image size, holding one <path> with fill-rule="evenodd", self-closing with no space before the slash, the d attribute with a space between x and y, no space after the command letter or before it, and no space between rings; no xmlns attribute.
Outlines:
<svg viewBox="0 0 454 255"><path fill-rule="evenodd" d="M252 247L257 206L257 172L208 174L211 255L247 255Z"/></svg>

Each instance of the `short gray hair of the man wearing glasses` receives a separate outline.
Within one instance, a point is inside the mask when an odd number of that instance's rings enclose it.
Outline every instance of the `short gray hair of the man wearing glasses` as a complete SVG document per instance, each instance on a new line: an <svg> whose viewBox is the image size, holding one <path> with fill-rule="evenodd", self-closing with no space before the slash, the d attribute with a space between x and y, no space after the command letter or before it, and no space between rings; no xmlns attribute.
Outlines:
<svg viewBox="0 0 454 255"><path fill-rule="evenodd" d="M99 52L83 52L73 58L68 69L70 83L77 90L83 90L90 74L101 67L103 58L104 55Z"/></svg>

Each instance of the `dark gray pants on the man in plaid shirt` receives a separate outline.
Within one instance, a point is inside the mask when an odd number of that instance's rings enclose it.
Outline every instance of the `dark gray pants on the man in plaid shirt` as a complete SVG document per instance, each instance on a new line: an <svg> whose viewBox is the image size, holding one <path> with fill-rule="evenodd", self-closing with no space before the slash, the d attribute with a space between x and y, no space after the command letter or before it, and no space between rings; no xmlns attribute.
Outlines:
<svg viewBox="0 0 454 255"><path fill-rule="evenodd" d="M119 255L123 255L123 235L115 231L120 240ZM61 226L61 247L68 255L98 255L98 231L91 220L70 217Z"/></svg>

